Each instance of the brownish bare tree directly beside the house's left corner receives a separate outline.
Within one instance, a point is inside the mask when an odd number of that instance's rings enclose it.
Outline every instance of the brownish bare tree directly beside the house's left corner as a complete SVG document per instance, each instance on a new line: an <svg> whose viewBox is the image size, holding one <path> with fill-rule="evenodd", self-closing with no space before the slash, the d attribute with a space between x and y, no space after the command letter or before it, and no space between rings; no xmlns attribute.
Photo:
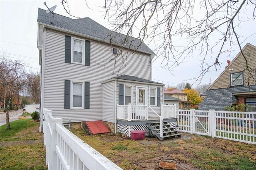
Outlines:
<svg viewBox="0 0 256 170"><path fill-rule="evenodd" d="M40 74L29 73L27 76L26 90L35 104L39 104L40 98Z"/></svg>

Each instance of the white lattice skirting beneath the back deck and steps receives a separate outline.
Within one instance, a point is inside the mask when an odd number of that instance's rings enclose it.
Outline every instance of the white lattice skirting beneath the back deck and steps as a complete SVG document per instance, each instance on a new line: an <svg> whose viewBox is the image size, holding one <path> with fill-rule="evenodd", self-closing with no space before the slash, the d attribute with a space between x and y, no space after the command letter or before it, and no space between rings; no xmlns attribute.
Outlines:
<svg viewBox="0 0 256 170"><path fill-rule="evenodd" d="M171 127L174 128L174 130L177 130L177 122L168 122L169 125L171 125ZM142 130L145 131L145 136L150 136L150 135L154 135L154 133L149 129L149 127L147 125L133 125L133 126L129 126L129 125L123 125L120 123L117 123L117 132L121 132L124 135L127 135L129 137L131 137L131 131L138 131L138 130Z"/></svg>

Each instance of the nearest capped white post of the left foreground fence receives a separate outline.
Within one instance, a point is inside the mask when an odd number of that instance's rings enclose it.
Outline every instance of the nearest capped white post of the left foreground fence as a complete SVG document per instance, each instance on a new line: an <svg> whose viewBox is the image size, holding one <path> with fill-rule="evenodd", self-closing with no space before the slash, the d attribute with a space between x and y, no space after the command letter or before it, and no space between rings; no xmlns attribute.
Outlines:
<svg viewBox="0 0 256 170"><path fill-rule="evenodd" d="M50 111L52 113L52 111ZM56 145L57 145L57 136L58 133L56 131L56 123L60 123L62 125L62 119L61 118L54 118L52 119L52 136L51 136L51 163L52 163L52 169L56 170L57 169L57 153L56 153Z"/></svg>

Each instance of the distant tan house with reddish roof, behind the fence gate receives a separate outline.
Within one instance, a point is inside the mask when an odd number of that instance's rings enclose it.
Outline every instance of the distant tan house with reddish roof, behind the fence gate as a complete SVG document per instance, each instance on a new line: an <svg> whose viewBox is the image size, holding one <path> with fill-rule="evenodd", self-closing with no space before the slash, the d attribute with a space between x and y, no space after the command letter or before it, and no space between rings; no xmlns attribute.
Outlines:
<svg viewBox="0 0 256 170"><path fill-rule="evenodd" d="M181 90L164 90L164 94L179 99L179 109L190 105L190 101L187 100L187 94Z"/></svg>

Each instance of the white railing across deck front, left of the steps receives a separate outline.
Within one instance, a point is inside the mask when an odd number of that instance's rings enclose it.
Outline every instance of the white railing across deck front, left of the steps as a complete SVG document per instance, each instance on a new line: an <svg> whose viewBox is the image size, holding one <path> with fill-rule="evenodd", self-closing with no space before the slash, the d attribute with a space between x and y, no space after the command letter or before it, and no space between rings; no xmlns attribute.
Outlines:
<svg viewBox="0 0 256 170"><path fill-rule="evenodd" d="M117 118L123 120L148 120L146 105L117 105Z"/></svg>

